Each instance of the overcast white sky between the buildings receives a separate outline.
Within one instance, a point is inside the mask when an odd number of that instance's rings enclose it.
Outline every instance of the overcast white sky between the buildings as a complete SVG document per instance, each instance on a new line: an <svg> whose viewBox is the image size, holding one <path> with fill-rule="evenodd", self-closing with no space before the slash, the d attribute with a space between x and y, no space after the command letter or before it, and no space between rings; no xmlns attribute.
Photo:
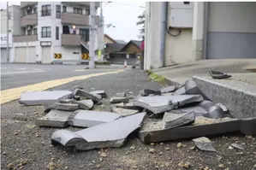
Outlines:
<svg viewBox="0 0 256 170"><path fill-rule="evenodd" d="M12 1L11 4L20 4L18 1ZM136 25L138 15L144 11L143 2L113 2L104 3L104 24L112 24L115 27L104 26L104 32L111 38L129 41L130 39L139 39L139 26ZM0 9L6 8L6 1L0 2Z"/></svg>

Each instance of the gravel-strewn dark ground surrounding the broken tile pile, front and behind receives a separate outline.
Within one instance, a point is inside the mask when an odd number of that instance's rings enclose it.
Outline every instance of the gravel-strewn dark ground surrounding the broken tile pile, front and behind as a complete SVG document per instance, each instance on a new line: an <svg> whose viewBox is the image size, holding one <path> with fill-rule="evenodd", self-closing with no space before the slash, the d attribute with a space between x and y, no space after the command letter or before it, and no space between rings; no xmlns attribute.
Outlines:
<svg viewBox="0 0 256 170"><path fill-rule="evenodd" d="M77 81L56 89L81 85L86 90L105 90L111 97L124 90L138 93L143 88L158 89L142 72L128 71L118 75ZM109 110L109 99L97 109ZM216 153L194 148L192 140L142 144L134 133L127 144L116 149L77 151L51 145L56 128L39 128L34 120L44 115L42 106L22 106L17 101L1 106L1 167L2 169L256 169L256 137L240 133L211 137ZM21 113L21 116L16 116ZM78 128L68 127L70 130ZM230 149L230 144L246 148Z"/></svg>

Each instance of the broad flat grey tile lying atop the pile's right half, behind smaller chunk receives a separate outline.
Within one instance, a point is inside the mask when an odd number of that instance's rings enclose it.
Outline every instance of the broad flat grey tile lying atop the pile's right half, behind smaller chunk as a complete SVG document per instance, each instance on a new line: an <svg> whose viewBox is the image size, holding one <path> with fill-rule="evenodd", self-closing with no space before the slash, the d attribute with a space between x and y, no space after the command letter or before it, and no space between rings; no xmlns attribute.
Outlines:
<svg viewBox="0 0 256 170"><path fill-rule="evenodd" d="M200 95L173 95L138 97L134 100L134 106L146 108L153 114L161 114L188 103L198 103L203 100Z"/></svg>

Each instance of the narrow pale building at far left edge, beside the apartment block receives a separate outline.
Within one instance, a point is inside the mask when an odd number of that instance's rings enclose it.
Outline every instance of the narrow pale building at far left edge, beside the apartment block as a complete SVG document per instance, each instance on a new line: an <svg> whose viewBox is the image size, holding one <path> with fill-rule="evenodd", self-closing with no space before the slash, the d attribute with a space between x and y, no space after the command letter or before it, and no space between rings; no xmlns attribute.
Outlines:
<svg viewBox="0 0 256 170"><path fill-rule="evenodd" d="M20 6L9 6L9 56L13 56L13 35L21 34ZM1 62L8 62L7 53L7 10L0 10L0 54Z"/></svg>

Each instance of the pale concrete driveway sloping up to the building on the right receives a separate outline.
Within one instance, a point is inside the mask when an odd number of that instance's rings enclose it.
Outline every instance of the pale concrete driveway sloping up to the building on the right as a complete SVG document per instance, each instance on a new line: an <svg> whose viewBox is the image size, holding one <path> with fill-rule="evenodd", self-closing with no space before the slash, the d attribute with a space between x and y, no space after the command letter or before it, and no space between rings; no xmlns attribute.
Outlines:
<svg viewBox="0 0 256 170"><path fill-rule="evenodd" d="M164 76L171 82L182 84L193 75L207 75L207 71L211 68L229 73L236 80L256 85L256 73L247 70L248 67L256 67L256 59L203 60L158 68L152 72Z"/></svg>

